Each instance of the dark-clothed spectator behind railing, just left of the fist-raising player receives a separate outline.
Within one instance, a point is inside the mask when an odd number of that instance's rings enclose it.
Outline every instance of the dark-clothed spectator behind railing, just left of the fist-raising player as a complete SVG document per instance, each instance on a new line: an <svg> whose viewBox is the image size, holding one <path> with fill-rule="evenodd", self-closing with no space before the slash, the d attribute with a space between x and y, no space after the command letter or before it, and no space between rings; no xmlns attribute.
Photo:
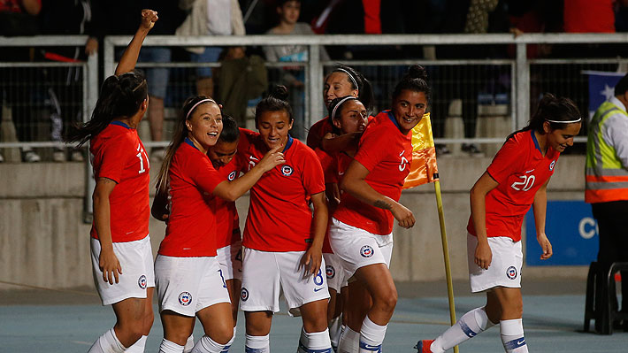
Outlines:
<svg viewBox="0 0 628 353"><path fill-rule="evenodd" d="M91 0L43 0L40 23L42 35L88 35L85 47L50 47L42 49L42 57L56 62L78 62L87 59L98 51L98 33L93 21L93 13L98 13ZM96 2L97 3L97 2ZM81 68L69 66L67 68L42 68L44 81L50 82L44 86L46 93L46 113L52 124L50 137L52 141L61 142L64 126L68 123L83 120L82 110L77 101L82 91ZM55 73L59 79L53 79ZM55 162L65 161L65 149L56 147L52 153ZM83 154L73 149L70 158L73 161L83 160Z"/></svg>

